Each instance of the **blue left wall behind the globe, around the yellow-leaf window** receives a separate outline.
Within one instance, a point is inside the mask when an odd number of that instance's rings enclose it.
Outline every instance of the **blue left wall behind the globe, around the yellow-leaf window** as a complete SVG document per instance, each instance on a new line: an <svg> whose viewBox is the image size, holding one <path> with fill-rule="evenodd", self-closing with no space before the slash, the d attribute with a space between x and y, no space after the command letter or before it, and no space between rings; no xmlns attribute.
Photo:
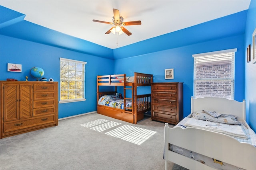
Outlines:
<svg viewBox="0 0 256 170"><path fill-rule="evenodd" d="M59 104L59 118L78 115L96 110L96 76L112 74L113 60L86 55L76 51L25 41L0 35L0 80L15 78L35 81L30 76L30 68L37 66L44 69L44 77L60 81L60 58L87 62L85 78L86 101ZM22 72L7 72L7 63L22 64Z"/></svg>

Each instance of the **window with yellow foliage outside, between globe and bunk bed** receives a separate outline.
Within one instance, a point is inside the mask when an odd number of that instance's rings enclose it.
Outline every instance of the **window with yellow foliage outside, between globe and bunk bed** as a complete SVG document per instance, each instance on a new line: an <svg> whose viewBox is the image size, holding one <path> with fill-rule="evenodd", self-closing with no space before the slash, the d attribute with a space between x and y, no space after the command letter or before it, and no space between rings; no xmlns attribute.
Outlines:
<svg viewBox="0 0 256 170"><path fill-rule="evenodd" d="M60 103L85 100L85 64L60 58Z"/></svg>

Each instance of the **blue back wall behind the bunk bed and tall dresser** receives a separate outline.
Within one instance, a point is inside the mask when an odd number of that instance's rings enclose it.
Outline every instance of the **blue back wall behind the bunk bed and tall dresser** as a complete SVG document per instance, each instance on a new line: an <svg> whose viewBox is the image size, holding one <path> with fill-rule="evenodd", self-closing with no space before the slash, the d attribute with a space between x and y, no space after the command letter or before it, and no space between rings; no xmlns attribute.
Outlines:
<svg viewBox="0 0 256 170"><path fill-rule="evenodd" d="M189 32L188 32L189 33ZM159 42L154 42L159 43ZM154 82L184 82L184 116L190 114L193 96L193 54L237 48L235 57L235 100L244 99L244 35L236 35L136 57L115 60L116 74L144 72L154 74ZM130 64L123 64L130 63ZM122 65L122 67L120 66ZM164 69L174 68L174 79L164 79Z"/></svg>

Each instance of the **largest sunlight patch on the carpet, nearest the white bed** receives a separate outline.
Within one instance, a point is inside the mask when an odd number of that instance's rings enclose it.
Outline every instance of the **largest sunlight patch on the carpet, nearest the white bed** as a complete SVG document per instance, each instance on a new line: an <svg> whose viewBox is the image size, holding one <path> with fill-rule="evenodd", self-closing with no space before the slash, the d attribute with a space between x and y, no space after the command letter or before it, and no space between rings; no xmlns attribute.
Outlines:
<svg viewBox="0 0 256 170"><path fill-rule="evenodd" d="M119 139L131 142L137 145L141 145L147 139L152 137L155 133L156 131L151 131L151 130L143 129L140 127L134 127L131 125L124 125L112 131L109 131L105 134L113 137L117 137Z"/></svg>

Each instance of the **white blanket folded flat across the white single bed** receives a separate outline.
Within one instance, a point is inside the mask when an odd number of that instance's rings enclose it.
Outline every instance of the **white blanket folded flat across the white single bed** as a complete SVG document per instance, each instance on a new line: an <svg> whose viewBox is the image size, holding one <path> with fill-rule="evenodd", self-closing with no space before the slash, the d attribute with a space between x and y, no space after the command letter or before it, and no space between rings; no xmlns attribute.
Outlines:
<svg viewBox="0 0 256 170"><path fill-rule="evenodd" d="M223 133L232 137L248 139L244 132L244 129L240 125L229 125L211 121L202 121L198 119L188 119L188 121L184 125L188 127L195 127L199 129Z"/></svg>

